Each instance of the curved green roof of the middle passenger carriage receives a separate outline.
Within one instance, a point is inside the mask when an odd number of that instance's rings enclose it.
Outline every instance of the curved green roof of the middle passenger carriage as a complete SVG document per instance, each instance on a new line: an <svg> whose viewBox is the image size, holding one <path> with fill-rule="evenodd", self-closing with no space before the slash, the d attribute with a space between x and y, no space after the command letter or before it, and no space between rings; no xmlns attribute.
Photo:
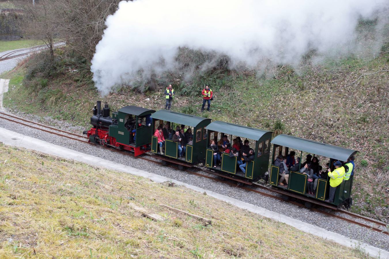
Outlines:
<svg viewBox="0 0 389 259"><path fill-rule="evenodd" d="M207 127L207 130L213 130L217 132L223 132L225 134L231 134L239 137L245 137L247 139L254 139L259 141L263 135L268 132L267 130L254 129L234 123L214 121L211 122Z"/></svg>

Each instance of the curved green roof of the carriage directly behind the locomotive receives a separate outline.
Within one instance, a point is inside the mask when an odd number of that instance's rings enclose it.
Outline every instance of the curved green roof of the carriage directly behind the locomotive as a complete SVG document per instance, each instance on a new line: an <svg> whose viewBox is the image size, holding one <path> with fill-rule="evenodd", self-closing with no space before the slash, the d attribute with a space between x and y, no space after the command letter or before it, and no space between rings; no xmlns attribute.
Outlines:
<svg viewBox="0 0 389 259"><path fill-rule="evenodd" d="M205 125L208 125L211 122L211 119L170 110L156 111L151 115L151 118L156 120L165 120L167 122L184 124L190 127L204 127Z"/></svg>

